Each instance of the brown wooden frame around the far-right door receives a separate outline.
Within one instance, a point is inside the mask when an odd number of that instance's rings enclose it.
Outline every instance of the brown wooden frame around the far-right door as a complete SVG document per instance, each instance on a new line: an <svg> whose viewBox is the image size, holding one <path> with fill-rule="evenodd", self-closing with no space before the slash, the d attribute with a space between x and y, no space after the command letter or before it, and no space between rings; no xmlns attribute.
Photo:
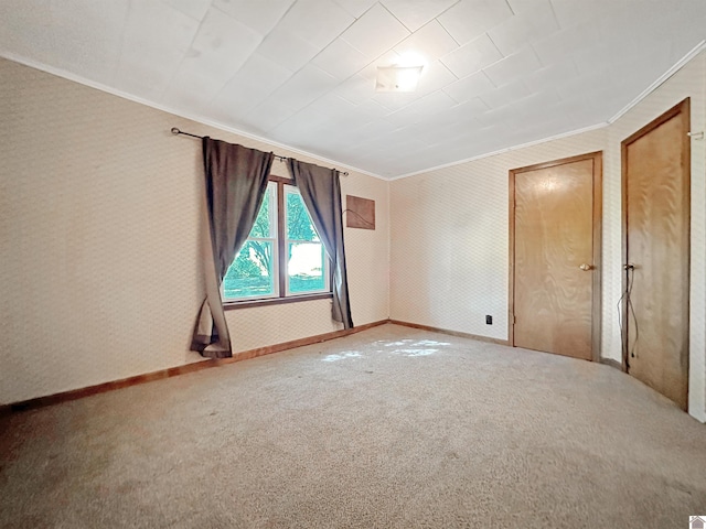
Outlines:
<svg viewBox="0 0 706 529"><path fill-rule="evenodd" d="M689 284L686 291L686 301L687 301L687 304L691 305L689 298L691 298L691 290L692 290L691 289L691 283L692 283L691 281L691 273L692 273L692 141L688 136L688 132L691 130L692 112L691 112L689 97L677 102L672 108L670 108L666 112L657 116L648 125L637 130L635 132L633 132L632 134L630 134L628 138L625 138L620 142L620 166L621 166L620 194L622 196L621 198L622 210L620 212L621 224L622 224L621 268L623 269L620 276L622 277L622 292L624 292L625 289L628 288L628 273L627 273L627 270L624 270L623 268L625 264L628 264L628 169L629 169L628 168L628 147L631 143L633 143L635 140L639 140L643 136L652 132L662 123L668 121L670 119L678 116L682 112L684 112L684 115L687 118L685 121L682 122L682 166L686 171L686 179L684 179L684 182L683 182L683 185L684 185L683 191L686 193L687 203L688 203L688 215L687 215L688 255L686 256L686 262L687 262L686 266L688 269L687 277L688 277ZM623 332L622 332L622 335L620 336L620 343L622 346L622 370L624 373L630 373L629 358L628 358L628 349L630 346L629 344L630 336L628 335L628 328L629 328L628 317L629 317L628 307L625 306L625 303L623 303L621 306L621 323L622 323ZM687 336L686 336L688 347L691 347L691 339L689 339L691 326L692 326L692 322L689 320L688 327L687 327L689 332L687 332ZM686 361L687 391L688 391L688 373L689 373L689 364L691 364L689 360L691 358L688 358L688 355L687 355L687 361Z"/></svg>

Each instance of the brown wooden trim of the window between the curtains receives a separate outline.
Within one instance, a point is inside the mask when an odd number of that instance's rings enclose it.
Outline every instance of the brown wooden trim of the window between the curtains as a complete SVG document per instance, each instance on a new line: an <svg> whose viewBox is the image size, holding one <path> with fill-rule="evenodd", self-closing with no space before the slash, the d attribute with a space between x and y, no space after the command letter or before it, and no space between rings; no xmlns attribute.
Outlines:
<svg viewBox="0 0 706 529"><path fill-rule="evenodd" d="M270 174L267 180L268 182L275 182L277 184L277 263L275 268L277 270L278 278L278 292L277 295L267 298L223 300L223 309L226 311L235 309L246 309L252 306L280 305L286 303L297 303L300 301L325 300L333 298L333 268L331 267L331 259L329 259L325 255L325 250L323 259L324 267L328 269L329 290L324 292L307 292L302 294L287 295L287 234L285 228L285 185L291 185L292 187L297 187L297 185L295 184L293 179L286 179L284 176L276 176L272 174ZM321 246L323 246L323 242L321 242Z"/></svg>

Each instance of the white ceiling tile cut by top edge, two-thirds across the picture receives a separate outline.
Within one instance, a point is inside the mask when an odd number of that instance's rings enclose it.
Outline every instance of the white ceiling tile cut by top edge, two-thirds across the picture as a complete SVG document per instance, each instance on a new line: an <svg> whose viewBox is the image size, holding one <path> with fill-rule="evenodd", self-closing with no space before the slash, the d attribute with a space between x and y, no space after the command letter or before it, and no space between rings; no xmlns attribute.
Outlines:
<svg viewBox="0 0 706 529"><path fill-rule="evenodd" d="M438 20L459 44L466 44L512 15L505 0L461 0Z"/></svg>

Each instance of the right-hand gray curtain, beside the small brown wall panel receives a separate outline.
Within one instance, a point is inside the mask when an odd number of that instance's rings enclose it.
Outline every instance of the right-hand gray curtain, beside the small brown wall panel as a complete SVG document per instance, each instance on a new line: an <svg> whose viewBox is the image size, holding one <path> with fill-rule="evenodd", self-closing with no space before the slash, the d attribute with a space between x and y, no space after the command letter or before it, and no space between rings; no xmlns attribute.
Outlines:
<svg viewBox="0 0 706 529"><path fill-rule="evenodd" d="M343 210L341 207L341 181L338 171L303 163L291 158L289 172L301 193L311 220L333 267L333 320L353 327L349 302L349 280L345 272L343 247Z"/></svg>

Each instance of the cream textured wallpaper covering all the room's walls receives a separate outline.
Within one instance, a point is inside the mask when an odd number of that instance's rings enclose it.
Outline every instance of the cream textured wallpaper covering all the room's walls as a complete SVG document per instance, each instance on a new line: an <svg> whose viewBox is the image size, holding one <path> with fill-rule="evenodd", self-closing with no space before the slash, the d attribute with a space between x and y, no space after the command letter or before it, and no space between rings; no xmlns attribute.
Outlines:
<svg viewBox="0 0 706 529"><path fill-rule="evenodd" d="M704 54L610 127L392 183L343 177L343 195L376 205L375 231L345 231L355 323L389 315L506 339L507 171L602 150L601 352L619 359L620 141L687 96L692 130L705 130ZM197 361L200 143L169 129L289 153L4 60L0 116L0 403ZM706 141L693 140L689 412L700 420L705 165ZM339 328L328 300L227 319L234 350Z"/></svg>

